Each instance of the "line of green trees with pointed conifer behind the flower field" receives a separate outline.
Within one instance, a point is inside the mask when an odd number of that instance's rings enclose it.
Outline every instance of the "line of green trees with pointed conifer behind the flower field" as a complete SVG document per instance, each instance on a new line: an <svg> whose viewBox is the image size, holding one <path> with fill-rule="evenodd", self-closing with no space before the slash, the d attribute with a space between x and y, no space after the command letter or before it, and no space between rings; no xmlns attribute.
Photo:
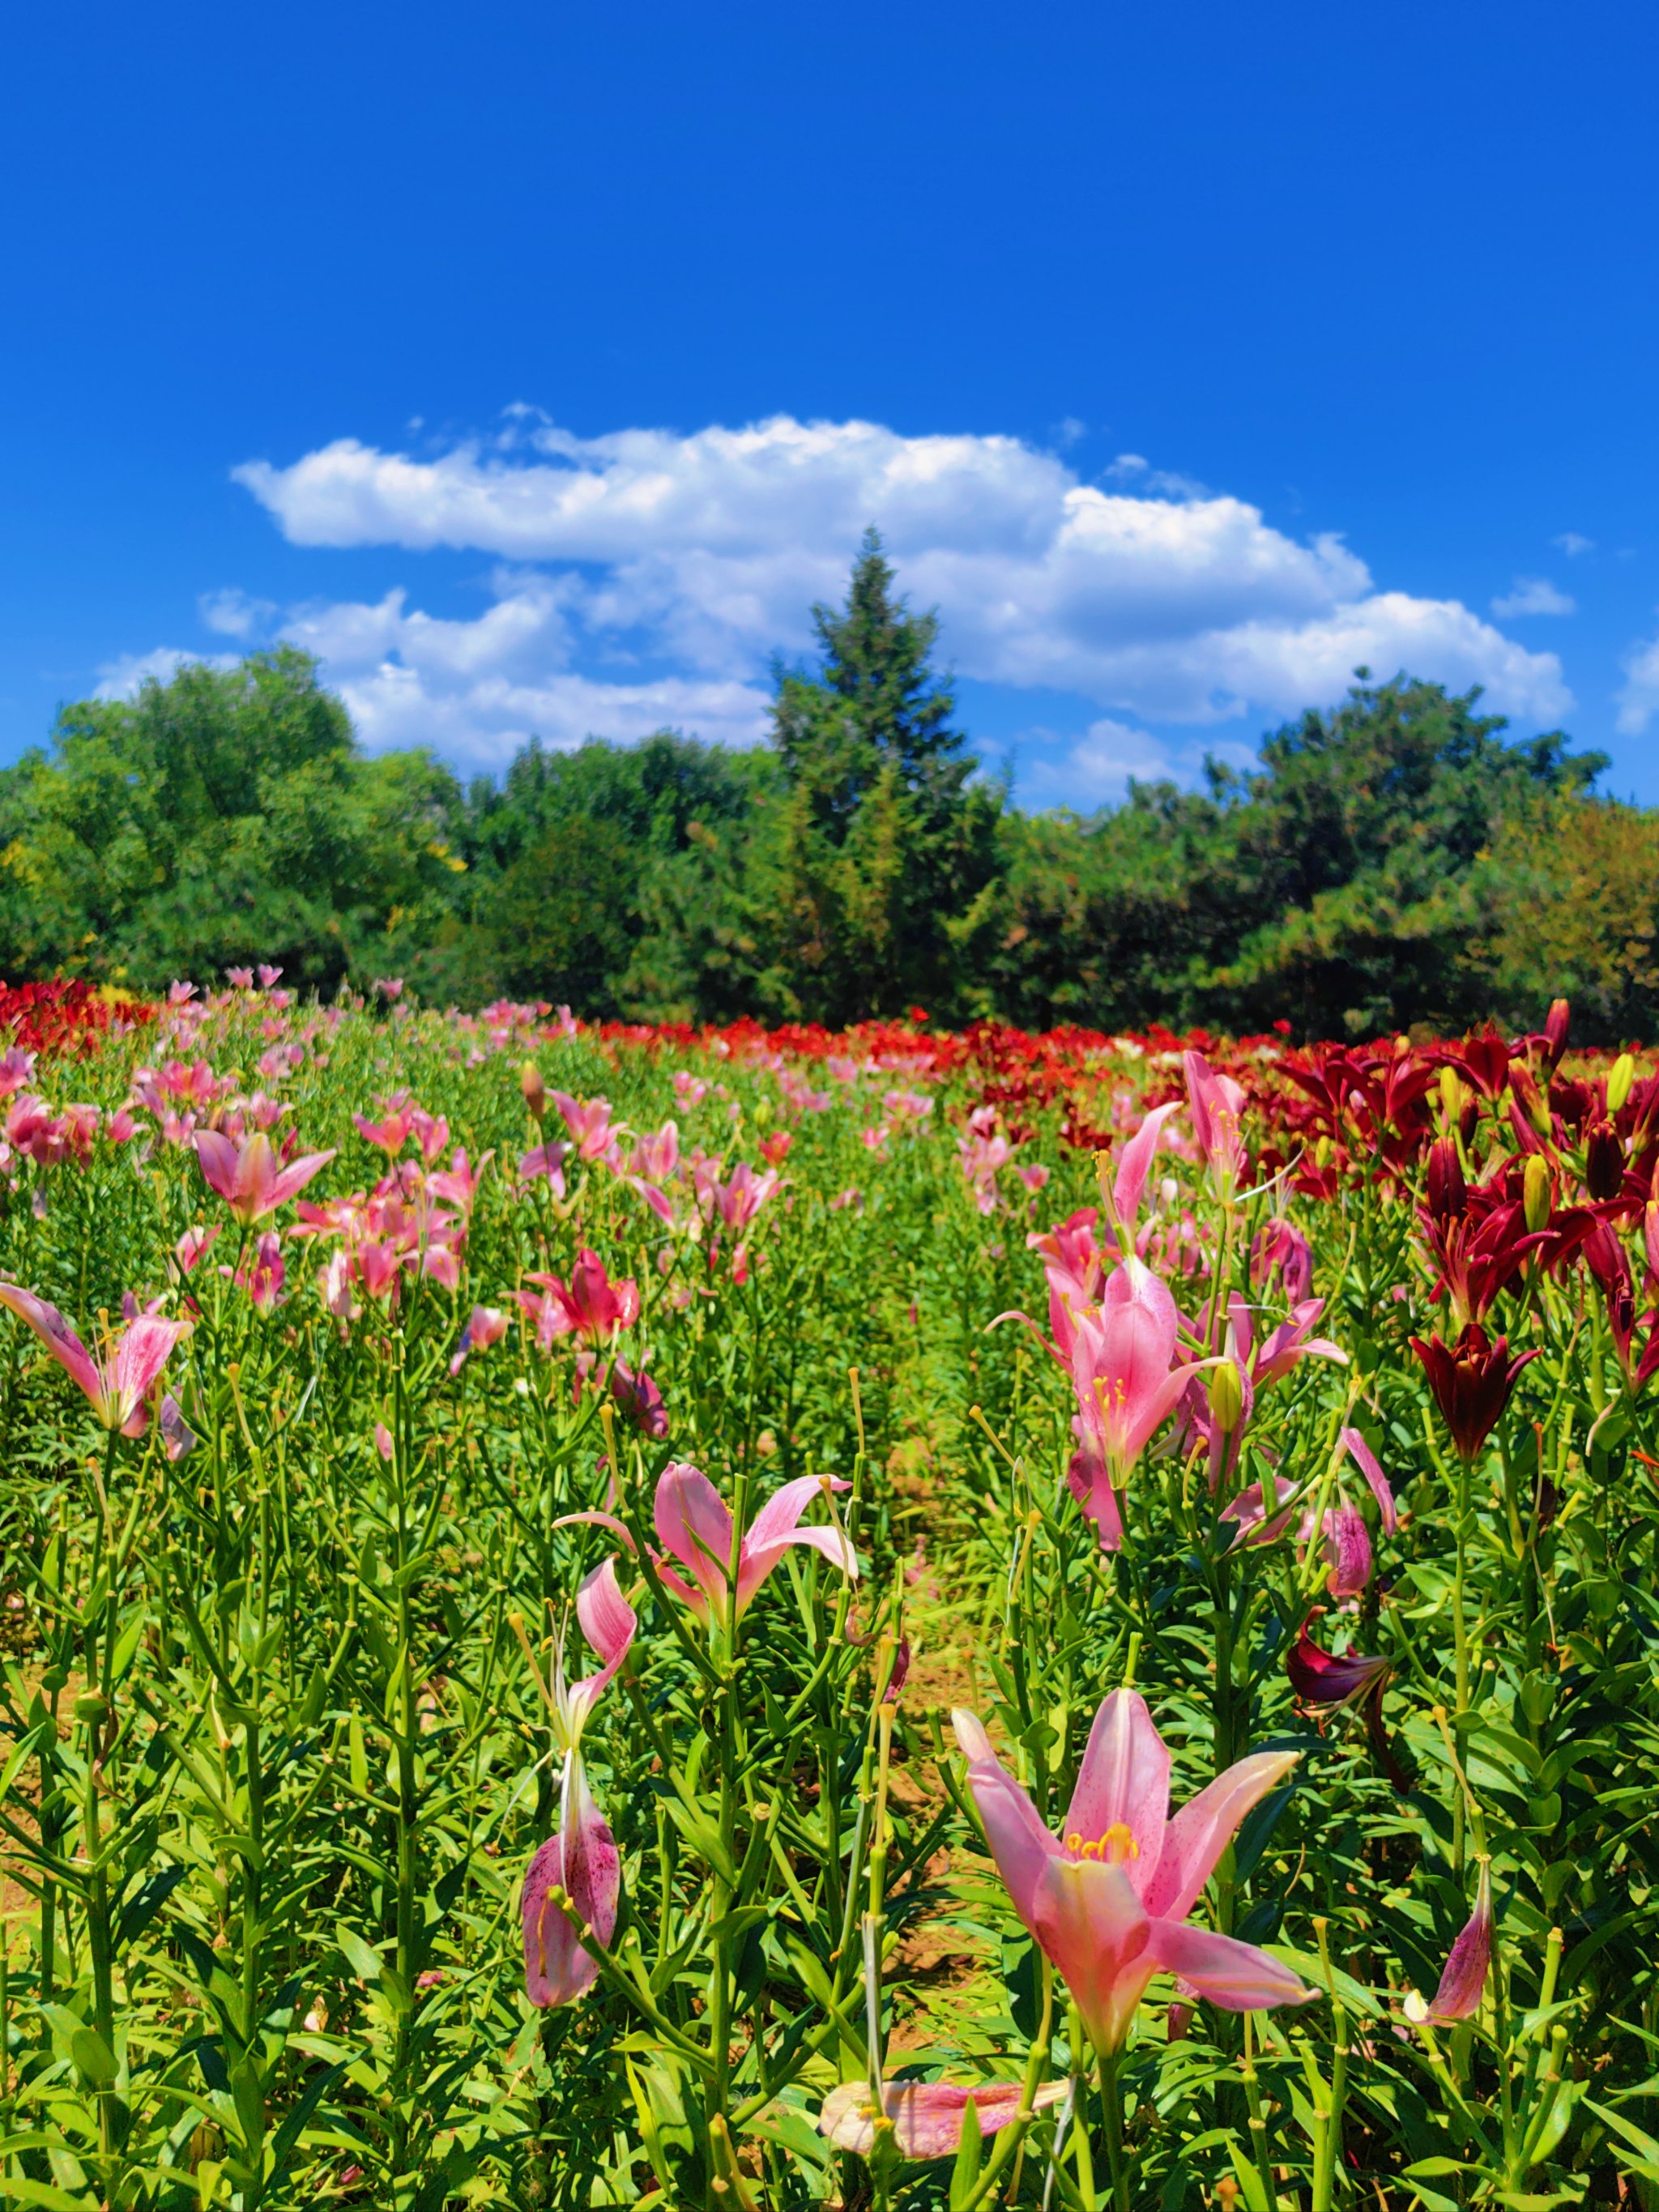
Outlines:
<svg viewBox="0 0 1659 2212"><path fill-rule="evenodd" d="M294 650L60 712L0 772L0 973L161 989L254 960L323 993L588 1018L1148 1022L1352 1035L1659 1026L1659 812L1480 695L1356 670L1241 774L1029 814L980 774L874 533L772 741L531 741L495 781L367 754Z"/></svg>

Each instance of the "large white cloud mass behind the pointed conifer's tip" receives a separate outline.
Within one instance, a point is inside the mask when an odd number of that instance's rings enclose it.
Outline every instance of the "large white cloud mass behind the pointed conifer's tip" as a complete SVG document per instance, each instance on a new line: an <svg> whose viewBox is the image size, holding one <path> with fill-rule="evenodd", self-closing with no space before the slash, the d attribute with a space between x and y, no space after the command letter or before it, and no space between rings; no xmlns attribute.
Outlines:
<svg viewBox="0 0 1659 2212"><path fill-rule="evenodd" d="M958 672L987 684L1208 726L1336 699L1365 661L1484 684L1524 721L1568 706L1555 655L1455 599L1378 591L1338 535L1290 538L1137 453L1091 484L1006 436L776 416L577 438L511 409L495 440L436 456L338 438L234 476L296 546L507 564L471 622L392 593L285 624L372 743L502 757L526 719L560 743L650 712L754 737L770 655L812 644L807 608L841 597L867 522L914 604L938 606Z"/></svg>

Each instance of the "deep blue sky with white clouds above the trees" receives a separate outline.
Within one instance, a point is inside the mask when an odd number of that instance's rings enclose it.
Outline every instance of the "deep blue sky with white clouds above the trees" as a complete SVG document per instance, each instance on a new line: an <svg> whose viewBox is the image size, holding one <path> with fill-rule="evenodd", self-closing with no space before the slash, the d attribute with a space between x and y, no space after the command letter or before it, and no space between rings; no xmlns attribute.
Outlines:
<svg viewBox="0 0 1659 2212"><path fill-rule="evenodd" d="M31 11L0 757L279 635L367 743L763 728L867 520L1029 803L1365 659L1659 801L1652 9Z"/></svg>

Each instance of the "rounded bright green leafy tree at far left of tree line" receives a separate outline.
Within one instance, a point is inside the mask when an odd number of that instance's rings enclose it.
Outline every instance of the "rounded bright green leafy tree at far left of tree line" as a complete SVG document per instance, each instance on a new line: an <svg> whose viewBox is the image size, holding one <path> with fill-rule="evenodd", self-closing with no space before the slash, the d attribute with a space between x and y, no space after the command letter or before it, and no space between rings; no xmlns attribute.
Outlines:
<svg viewBox="0 0 1659 2212"><path fill-rule="evenodd" d="M0 772L0 967L332 987L447 911L458 803L427 754L365 759L292 648L84 701Z"/></svg>

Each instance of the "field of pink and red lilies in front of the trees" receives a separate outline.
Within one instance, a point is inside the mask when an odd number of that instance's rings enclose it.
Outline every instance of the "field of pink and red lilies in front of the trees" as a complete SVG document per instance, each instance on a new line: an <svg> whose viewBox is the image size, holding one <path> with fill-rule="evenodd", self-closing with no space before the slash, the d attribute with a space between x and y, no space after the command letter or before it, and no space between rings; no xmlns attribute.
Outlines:
<svg viewBox="0 0 1659 2212"><path fill-rule="evenodd" d="M0 993L0 2201L1659 2205L1659 1075Z"/></svg>

